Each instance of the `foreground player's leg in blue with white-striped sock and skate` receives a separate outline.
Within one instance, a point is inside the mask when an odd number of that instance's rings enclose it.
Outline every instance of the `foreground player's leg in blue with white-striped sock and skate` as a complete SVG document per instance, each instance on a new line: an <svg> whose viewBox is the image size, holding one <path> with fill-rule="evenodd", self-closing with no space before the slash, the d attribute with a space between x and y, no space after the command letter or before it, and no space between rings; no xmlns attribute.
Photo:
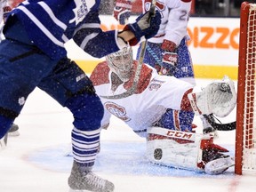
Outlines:
<svg viewBox="0 0 256 192"><path fill-rule="evenodd" d="M75 62L60 60L51 76L38 85L74 116L73 167L68 178L71 190L113 191L114 185L92 173L100 146L100 123L104 108L92 82Z"/></svg>

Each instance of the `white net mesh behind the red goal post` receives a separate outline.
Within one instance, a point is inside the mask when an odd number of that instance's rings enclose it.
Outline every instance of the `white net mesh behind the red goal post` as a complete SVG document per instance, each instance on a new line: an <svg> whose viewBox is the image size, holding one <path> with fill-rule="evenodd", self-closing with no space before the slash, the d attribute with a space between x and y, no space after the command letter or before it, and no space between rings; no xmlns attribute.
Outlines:
<svg viewBox="0 0 256 192"><path fill-rule="evenodd" d="M256 62L256 4L250 4L244 89L244 147L243 170L256 171L256 108L255 62Z"/></svg>

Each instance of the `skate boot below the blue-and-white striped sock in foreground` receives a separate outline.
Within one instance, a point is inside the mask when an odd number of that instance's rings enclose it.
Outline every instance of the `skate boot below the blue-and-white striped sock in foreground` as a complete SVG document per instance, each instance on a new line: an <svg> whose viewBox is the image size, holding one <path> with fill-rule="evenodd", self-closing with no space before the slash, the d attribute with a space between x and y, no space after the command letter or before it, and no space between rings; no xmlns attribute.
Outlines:
<svg viewBox="0 0 256 192"><path fill-rule="evenodd" d="M82 172L79 169L79 164L75 161L73 163L71 174L68 178L69 192L112 192L114 191L114 184L108 180L101 179L99 176L92 173L92 171Z"/></svg>

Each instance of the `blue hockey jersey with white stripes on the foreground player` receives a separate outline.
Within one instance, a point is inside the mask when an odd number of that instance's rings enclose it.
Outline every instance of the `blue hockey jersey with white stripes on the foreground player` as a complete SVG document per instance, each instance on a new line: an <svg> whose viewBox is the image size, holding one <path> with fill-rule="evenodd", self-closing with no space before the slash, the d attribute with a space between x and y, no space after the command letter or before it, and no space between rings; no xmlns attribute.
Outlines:
<svg viewBox="0 0 256 192"><path fill-rule="evenodd" d="M100 0L27 0L12 10L7 22L15 15L31 41L53 60L67 56L64 44L71 38L100 58L119 47L115 31L100 29L99 7Z"/></svg>

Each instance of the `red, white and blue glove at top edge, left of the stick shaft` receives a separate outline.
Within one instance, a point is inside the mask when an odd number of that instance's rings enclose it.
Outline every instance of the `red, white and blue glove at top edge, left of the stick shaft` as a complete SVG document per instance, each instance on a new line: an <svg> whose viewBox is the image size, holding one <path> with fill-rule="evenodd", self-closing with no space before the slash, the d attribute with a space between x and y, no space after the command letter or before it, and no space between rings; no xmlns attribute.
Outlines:
<svg viewBox="0 0 256 192"><path fill-rule="evenodd" d="M121 25L129 20L132 10L131 0L116 0L116 5L114 7L114 17Z"/></svg>

